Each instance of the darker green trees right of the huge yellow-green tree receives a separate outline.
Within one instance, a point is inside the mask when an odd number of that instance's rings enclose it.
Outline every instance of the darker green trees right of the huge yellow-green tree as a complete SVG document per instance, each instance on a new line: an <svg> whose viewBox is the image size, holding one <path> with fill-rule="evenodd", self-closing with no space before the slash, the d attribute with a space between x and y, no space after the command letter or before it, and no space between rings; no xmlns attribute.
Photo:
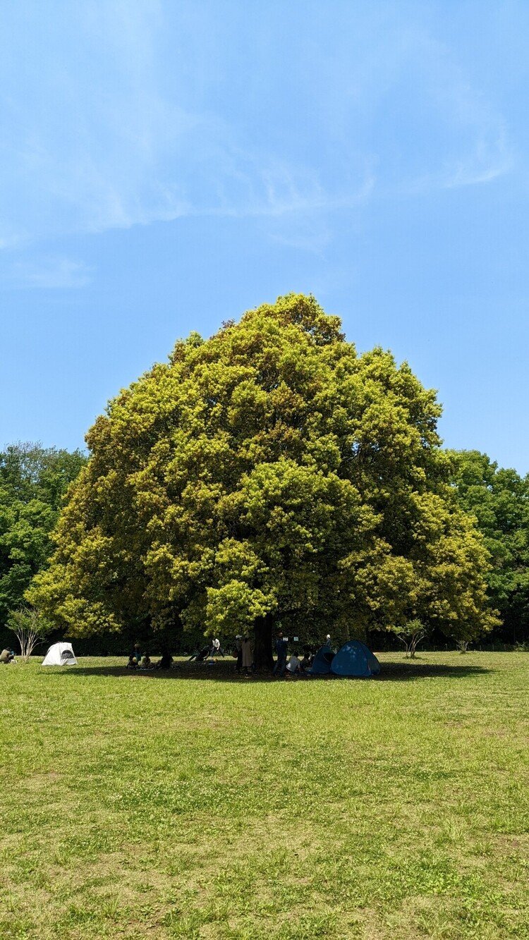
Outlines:
<svg viewBox="0 0 529 940"><path fill-rule="evenodd" d="M513 643L529 638L529 476L478 450L450 451L459 505L475 516L490 554L490 605Z"/></svg>

